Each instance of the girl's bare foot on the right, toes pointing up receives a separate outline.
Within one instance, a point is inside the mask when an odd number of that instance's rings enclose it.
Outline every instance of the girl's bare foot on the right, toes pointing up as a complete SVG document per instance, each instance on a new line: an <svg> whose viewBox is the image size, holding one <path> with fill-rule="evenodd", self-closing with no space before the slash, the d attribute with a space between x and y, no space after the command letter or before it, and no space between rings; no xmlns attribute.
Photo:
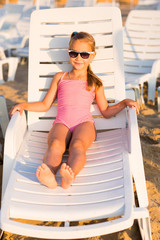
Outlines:
<svg viewBox="0 0 160 240"><path fill-rule="evenodd" d="M74 181L74 173L72 169L63 163L60 169L60 174L62 176L62 187L69 188Z"/></svg>

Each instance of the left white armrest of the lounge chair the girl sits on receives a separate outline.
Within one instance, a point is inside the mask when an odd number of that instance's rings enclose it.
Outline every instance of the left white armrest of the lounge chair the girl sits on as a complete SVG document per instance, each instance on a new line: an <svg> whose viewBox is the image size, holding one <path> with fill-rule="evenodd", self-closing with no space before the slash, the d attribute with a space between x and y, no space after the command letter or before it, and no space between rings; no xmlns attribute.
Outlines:
<svg viewBox="0 0 160 240"><path fill-rule="evenodd" d="M14 158L21 146L26 129L27 124L25 113L20 115L19 112L16 112L8 124L5 135L2 194L4 194L4 191L6 189L8 179L13 167Z"/></svg>

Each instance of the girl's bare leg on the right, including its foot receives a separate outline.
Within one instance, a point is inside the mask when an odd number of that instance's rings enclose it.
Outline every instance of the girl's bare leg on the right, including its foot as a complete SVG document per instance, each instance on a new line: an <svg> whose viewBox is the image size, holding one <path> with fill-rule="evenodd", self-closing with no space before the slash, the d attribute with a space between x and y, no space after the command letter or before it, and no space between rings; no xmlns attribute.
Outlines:
<svg viewBox="0 0 160 240"><path fill-rule="evenodd" d="M72 135L69 145L69 158L67 164L62 164L62 187L68 188L75 176L81 171L86 162L86 151L96 138L95 127L92 122L78 125Z"/></svg>

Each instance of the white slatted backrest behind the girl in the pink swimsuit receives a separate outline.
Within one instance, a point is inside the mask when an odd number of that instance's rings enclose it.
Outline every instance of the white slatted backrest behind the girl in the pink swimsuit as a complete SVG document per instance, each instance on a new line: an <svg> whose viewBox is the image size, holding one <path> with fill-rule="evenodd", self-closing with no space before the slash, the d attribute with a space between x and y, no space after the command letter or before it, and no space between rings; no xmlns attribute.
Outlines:
<svg viewBox="0 0 160 240"><path fill-rule="evenodd" d="M117 15L120 17L120 10L114 7L109 9L82 7L79 8L78 15L74 8L60 9L60 11L56 9L55 12L54 9L42 10L42 14L38 14L38 16L36 11L32 14L29 49L29 102L43 99L55 73L70 71L68 43L70 35L74 31L86 31L95 37L97 55L91 67L103 80L107 99L111 102L118 102L125 98L123 49L119 48L119 44L122 44L122 26L119 18L112 17L115 12L118 12ZM38 22L36 31L32 24L34 18ZM92 105L91 111L95 117L97 129L125 127L123 112L120 113L122 115L121 122L117 120L116 116L110 120L101 118L96 104ZM29 112L29 129L49 130L56 114L57 106L55 104L46 113Z"/></svg>

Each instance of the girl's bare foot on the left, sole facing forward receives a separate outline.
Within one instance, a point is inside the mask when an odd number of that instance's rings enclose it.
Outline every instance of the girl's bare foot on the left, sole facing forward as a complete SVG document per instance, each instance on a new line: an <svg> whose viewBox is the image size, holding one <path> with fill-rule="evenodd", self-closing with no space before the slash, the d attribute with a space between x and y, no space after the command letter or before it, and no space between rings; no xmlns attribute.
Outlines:
<svg viewBox="0 0 160 240"><path fill-rule="evenodd" d="M36 176L38 180L45 186L49 188L57 187L55 175L52 173L51 169L45 163L42 163L42 165L38 167Z"/></svg>

